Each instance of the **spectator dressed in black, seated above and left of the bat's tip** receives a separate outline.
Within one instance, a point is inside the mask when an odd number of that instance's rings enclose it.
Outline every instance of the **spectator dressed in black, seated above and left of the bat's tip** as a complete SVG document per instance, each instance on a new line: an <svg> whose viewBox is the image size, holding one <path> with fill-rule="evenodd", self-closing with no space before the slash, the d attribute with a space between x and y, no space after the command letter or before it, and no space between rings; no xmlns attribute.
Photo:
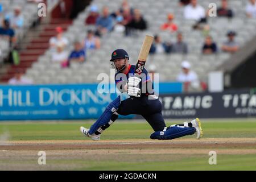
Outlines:
<svg viewBox="0 0 256 182"><path fill-rule="evenodd" d="M134 10L134 17L130 23L126 25L126 35L129 35L134 30L146 30L147 22L141 15L138 9Z"/></svg>

